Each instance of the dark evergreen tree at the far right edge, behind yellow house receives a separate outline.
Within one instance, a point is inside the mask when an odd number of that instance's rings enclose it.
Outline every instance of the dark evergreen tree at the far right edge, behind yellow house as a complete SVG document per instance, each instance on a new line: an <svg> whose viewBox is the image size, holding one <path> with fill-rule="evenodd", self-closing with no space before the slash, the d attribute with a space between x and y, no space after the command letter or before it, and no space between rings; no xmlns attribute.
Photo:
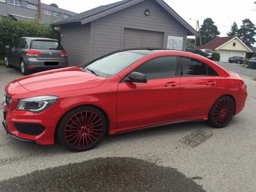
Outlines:
<svg viewBox="0 0 256 192"><path fill-rule="evenodd" d="M251 46L256 42L254 38L256 35L256 27L250 19L244 19L242 22L241 28L238 29L238 37L247 46Z"/></svg>

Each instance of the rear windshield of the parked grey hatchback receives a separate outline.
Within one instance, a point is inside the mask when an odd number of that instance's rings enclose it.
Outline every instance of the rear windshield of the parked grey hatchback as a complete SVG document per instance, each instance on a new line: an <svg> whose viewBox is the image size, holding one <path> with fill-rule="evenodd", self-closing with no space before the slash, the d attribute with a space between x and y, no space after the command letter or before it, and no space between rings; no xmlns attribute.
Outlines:
<svg viewBox="0 0 256 192"><path fill-rule="evenodd" d="M31 41L31 49L42 50L63 50L61 44L57 41Z"/></svg>

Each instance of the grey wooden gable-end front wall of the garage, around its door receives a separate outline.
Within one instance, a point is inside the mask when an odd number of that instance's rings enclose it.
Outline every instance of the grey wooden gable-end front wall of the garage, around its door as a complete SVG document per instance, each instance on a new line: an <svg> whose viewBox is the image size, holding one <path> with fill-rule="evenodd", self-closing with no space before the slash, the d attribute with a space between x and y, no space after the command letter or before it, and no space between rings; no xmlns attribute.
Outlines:
<svg viewBox="0 0 256 192"><path fill-rule="evenodd" d="M150 10L149 16L145 15L146 9ZM91 58L122 49L124 28L163 32L163 48L169 35L183 37L185 49L187 29L157 2L148 0L92 21Z"/></svg>

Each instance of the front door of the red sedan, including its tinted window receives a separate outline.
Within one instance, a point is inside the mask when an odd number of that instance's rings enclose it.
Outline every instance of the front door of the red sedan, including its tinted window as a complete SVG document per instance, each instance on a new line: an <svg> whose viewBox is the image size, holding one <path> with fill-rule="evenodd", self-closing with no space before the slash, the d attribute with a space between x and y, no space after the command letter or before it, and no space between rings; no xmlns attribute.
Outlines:
<svg viewBox="0 0 256 192"><path fill-rule="evenodd" d="M119 83L117 129L128 130L172 121L180 91L177 70L176 57L158 57L134 70L147 75L147 83Z"/></svg>

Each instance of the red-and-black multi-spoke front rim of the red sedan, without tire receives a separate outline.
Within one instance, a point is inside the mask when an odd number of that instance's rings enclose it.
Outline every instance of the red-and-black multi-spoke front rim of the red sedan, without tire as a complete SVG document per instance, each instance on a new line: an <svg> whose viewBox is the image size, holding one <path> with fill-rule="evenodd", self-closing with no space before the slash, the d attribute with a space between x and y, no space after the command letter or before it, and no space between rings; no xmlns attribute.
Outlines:
<svg viewBox="0 0 256 192"><path fill-rule="evenodd" d="M93 111L80 111L69 118L64 131L67 144L71 148L83 150L99 142L103 134L103 122Z"/></svg>

